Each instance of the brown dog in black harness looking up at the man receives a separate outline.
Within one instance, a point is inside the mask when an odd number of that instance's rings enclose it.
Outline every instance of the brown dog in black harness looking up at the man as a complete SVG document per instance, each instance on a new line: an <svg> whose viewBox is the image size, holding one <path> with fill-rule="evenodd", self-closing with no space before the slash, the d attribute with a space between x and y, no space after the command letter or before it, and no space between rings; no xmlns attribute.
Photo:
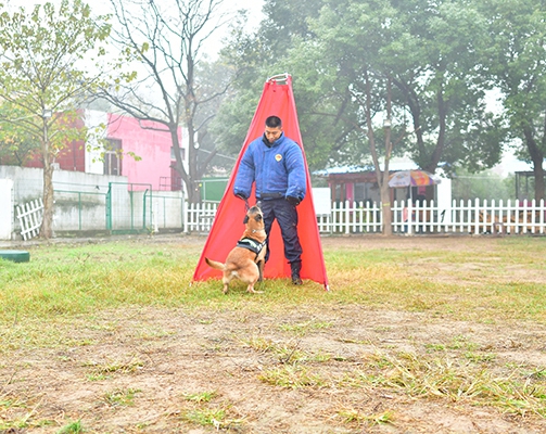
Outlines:
<svg viewBox="0 0 546 434"><path fill-rule="evenodd" d="M258 294L262 291L255 291L254 284L264 273L264 263L267 252L266 231L264 229L264 216L258 206L253 206L246 212L244 217L246 229L237 243L237 246L229 252L226 264L218 263L205 257L208 266L224 271L221 279L224 283L224 294L228 292L229 282L237 278L249 286L246 291Z"/></svg>

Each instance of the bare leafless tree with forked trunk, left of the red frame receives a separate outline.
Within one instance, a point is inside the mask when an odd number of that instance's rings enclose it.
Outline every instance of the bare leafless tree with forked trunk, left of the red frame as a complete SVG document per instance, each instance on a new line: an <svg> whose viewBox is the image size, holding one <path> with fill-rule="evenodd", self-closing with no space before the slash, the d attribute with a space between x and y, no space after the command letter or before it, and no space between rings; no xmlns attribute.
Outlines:
<svg viewBox="0 0 546 434"><path fill-rule="evenodd" d="M122 74L114 86L102 89L100 97L130 116L153 122L169 132L175 169L190 202L201 200L198 181L216 154L211 152L198 164L196 136L203 125L198 125L196 113L200 105L218 98L226 89L201 92L195 73L205 54L205 42L227 18L220 10L223 1L111 0L118 22L114 25L114 41L136 72ZM188 166L183 164L179 127L187 129Z"/></svg>

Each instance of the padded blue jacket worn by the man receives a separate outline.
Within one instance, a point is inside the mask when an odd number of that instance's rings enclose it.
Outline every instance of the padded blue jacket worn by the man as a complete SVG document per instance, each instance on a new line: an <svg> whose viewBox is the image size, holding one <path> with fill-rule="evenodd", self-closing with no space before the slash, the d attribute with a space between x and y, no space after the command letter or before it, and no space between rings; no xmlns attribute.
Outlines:
<svg viewBox="0 0 546 434"><path fill-rule="evenodd" d="M239 165L233 193L250 197L254 181L257 200L287 196L303 200L307 173L302 149L284 133L271 144L265 137L253 140Z"/></svg>

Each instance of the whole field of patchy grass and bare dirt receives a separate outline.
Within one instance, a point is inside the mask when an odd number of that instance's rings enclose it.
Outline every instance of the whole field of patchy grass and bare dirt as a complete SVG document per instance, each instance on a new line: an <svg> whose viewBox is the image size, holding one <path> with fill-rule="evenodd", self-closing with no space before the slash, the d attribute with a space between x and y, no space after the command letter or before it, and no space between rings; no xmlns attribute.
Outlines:
<svg viewBox="0 0 546 434"><path fill-rule="evenodd" d="M325 238L331 291L227 295L204 242L0 261L0 432L546 431L546 238Z"/></svg>

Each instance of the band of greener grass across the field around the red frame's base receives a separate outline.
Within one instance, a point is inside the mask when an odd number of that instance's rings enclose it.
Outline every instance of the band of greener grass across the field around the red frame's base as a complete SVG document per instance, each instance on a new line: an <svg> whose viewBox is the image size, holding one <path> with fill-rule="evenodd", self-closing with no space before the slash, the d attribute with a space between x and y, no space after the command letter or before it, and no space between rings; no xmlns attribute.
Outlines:
<svg viewBox="0 0 546 434"><path fill-rule="evenodd" d="M30 263L0 263L0 314L16 323L23 317L59 320L120 306L233 308L244 303L267 311L302 303L358 303L459 319L546 320L544 285L511 281L504 271L517 266L546 272L538 259L546 257L542 238L498 240L497 250L480 257L442 251L325 251L331 292L313 282L294 291L288 280L275 280L259 285L266 293L261 296L249 296L238 283L228 296L215 280L191 284L200 248L138 241L31 247ZM494 265L475 269L477 263ZM408 273L414 264L422 272ZM440 283L430 279L434 267L446 277Z"/></svg>

